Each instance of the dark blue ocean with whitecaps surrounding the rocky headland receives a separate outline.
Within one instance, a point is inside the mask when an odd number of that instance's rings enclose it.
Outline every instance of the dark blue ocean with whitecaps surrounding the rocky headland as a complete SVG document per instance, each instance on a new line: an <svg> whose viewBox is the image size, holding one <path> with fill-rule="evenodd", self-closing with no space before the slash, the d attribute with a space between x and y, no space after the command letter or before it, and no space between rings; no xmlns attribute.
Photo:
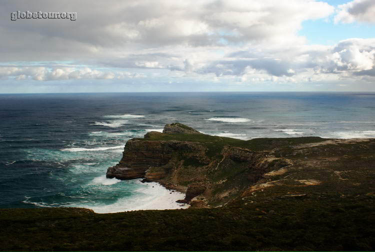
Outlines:
<svg viewBox="0 0 375 252"><path fill-rule="evenodd" d="M162 188L106 168L126 140L175 121L240 139L375 137L375 93L0 94L0 207L145 208Z"/></svg>

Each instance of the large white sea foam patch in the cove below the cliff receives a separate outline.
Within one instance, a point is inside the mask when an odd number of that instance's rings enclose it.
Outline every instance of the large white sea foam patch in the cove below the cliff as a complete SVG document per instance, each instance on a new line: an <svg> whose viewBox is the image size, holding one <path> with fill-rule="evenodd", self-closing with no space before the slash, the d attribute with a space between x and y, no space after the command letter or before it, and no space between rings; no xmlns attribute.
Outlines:
<svg viewBox="0 0 375 252"><path fill-rule="evenodd" d="M188 204L175 202L183 199L185 194L178 191L170 191L156 182L141 183L140 179L135 182L140 185L136 189L135 195L131 197L123 197L116 202L107 205L86 205L76 204L79 206L92 209L97 213L121 212L132 210L163 210L187 208Z"/></svg>

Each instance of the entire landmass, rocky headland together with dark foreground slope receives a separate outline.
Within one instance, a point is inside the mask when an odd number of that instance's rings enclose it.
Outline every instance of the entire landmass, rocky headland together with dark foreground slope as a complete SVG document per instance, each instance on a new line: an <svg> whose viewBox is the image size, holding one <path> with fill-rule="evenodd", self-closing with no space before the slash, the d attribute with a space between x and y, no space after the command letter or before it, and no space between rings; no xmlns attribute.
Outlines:
<svg viewBox="0 0 375 252"><path fill-rule="evenodd" d="M187 209L1 209L0 250L374 250L375 139L239 140L180 123L127 141L106 176Z"/></svg>

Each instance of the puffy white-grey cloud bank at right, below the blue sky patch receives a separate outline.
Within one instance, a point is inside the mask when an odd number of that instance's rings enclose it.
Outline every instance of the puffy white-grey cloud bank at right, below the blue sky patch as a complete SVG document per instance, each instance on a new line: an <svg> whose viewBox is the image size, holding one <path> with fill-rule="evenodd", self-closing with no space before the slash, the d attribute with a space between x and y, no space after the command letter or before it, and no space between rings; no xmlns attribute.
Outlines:
<svg viewBox="0 0 375 252"><path fill-rule="evenodd" d="M278 50L248 48L230 53L224 60L212 61L197 71L216 76L266 73L286 78L335 74L339 78L342 74L372 73L374 66L375 39L353 38L334 46L297 45Z"/></svg>

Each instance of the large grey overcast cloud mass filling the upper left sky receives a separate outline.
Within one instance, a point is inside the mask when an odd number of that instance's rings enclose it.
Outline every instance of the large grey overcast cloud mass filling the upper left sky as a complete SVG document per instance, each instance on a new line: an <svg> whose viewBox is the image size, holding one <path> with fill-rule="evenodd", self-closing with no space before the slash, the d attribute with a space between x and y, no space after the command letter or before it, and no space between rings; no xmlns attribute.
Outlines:
<svg viewBox="0 0 375 252"><path fill-rule="evenodd" d="M69 10L77 18L11 21L9 13L17 10ZM296 35L303 20L332 12L329 4L311 0L8 0L0 15L0 60L88 60L168 46L174 52L179 46L289 43L303 40Z"/></svg>

